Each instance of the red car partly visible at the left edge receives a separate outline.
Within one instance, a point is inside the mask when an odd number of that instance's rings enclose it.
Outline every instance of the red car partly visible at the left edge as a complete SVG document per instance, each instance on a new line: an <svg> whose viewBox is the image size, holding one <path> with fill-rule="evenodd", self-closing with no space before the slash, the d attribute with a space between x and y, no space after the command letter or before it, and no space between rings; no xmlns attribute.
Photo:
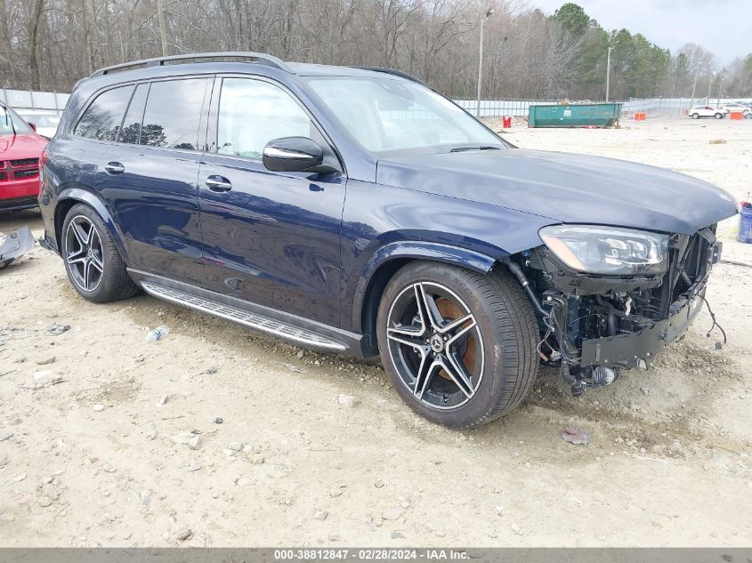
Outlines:
<svg viewBox="0 0 752 563"><path fill-rule="evenodd" d="M0 102L0 212L39 205L39 158L47 140Z"/></svg>

